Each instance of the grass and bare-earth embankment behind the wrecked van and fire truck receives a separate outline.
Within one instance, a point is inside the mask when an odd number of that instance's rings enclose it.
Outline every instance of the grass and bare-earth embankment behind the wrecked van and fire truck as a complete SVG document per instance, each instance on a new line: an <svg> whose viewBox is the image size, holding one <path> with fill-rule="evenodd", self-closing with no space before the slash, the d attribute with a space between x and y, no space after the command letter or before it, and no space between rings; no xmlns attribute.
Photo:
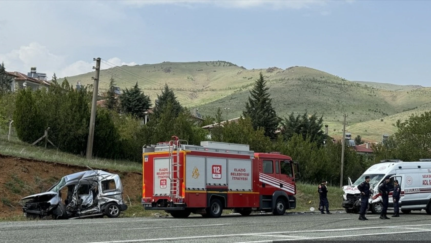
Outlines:
<svg viewBox="0 0 431 243"><path fill-rule="evenodd" d="M125 200L128 204L128 210L122 214L122 217L163 217L166 215L164 211L146 211L142 208L139 200L140 187L138 185L142 180L139 174L142 172L140 163L100 159L86 160L80 156L52 149L29 146L18 141L7 142L4 140L0 140L0 154L12 156L2 159L3 165L0 165L0 167L3 166L3 169L7 170L6 173L0 176L0 181L3 182L1 183L2 190L5 191L2 193L0 201L0 211L3 210L3 215L0 215L0 221L27 220L20 212L19 199L29 194L44 191L52 184L51 179L54 177L59 179L63 174L79 171L80 169L76 168L76 166L81 166L83 169L85 169L85 166L90 166L94 169L108 169L120 172L125 194L127 194L125 195ZM45 163L45 161L48 162L46 166L41 166L41 163ZM70 168L70 165L75 168ZM126 172L126 174L122 175L122 172ZM16 179L19 181L16 181ZM317 193L317 186L317 184L297 183L297 208L288 210L288 212L309 212L311 207L314 207L315 212L318 212L319 194ZM343 191L335 187L329 187L328 189L330 210L340 209ZM231 213L231 210L224 210L224 213Z"/></svg>

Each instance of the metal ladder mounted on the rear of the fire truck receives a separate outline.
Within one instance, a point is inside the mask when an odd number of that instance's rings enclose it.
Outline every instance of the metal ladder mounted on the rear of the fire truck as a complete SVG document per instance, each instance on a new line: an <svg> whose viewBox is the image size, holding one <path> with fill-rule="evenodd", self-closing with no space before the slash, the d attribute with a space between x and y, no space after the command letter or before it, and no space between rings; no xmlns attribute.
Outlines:
<svg viewBox="0 0 431 243"><path fill-rule="evenodd" d="M180 199L180 151L181 151L181 141L186 142L187 140L178 139L177 136L172 136L174 140L169 141L169 180L170 180L170 192L169 197L173 203L183 203ZM174 159L174 150L176 150L176 161Z"/></svg>

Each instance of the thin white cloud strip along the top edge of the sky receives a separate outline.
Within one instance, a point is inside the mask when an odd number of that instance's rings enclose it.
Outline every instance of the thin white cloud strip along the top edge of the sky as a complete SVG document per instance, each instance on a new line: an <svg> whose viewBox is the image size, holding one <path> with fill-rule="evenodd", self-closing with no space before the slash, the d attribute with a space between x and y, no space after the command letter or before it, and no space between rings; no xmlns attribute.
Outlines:
<svg viewBox="0 0 431 243"><path fill-rule="evenodd" d="M191 4L212 4L225 8L253 8L269 6L275 9L303 9L310 6L323 6L328 0L127 0L122 3L132 6L146 6L156 4L176 4L176 5L191 5Z"/></svg>

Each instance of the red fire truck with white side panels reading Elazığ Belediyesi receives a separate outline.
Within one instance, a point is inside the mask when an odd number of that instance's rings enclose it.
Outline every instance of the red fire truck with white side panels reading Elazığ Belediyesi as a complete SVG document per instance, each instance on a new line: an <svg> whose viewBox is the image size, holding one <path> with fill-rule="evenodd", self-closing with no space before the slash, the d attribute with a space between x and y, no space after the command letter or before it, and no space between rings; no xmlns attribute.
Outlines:
<svg viewBox="0 0 431 243"><path fill-rule="evenodd" d="M202 141L169 142L143 148L141 203L175 218L191 213L217 218L223 209L283 215L296 207L295 170L289 156L254 153L249 145Z"/></svg>

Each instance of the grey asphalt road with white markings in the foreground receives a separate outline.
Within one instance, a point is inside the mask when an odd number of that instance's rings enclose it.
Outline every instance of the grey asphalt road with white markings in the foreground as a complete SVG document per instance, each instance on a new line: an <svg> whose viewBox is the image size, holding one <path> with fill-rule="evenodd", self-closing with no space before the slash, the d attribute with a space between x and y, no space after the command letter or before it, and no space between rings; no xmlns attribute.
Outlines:
<svg viewBox="0 0 431 243"><path fill-rule="evenodd" d="M390 214L388 214L390 217ZM334 212L273 215L226 215L203 218L98 218L1 222L5 243L127 242L306 242L316 240L430 240L431 215L424 211L382 220L378 215Z"/></svg>

